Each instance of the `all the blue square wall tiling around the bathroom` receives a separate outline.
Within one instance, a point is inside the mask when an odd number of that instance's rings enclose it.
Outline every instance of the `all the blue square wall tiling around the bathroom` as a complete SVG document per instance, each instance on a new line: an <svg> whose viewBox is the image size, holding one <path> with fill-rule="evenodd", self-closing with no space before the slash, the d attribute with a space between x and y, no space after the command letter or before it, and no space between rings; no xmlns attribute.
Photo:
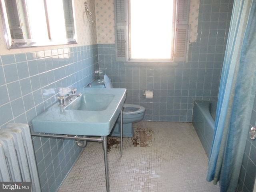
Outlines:
<svg viewBox="0 0 256 192"><path fill-rule="evenodd" d="M127 88L126 103L146 108L144 120L191 122L194 100L216 100L233 0L200 0L198 36L189 46L188 63L178 67L124 66L114 44L98 44L0 56L0 128L31 120L56 103L69 87L88 84L100 68L114 87ZM101 74L102 75L102 74ZM145 99L143 89L153 89ZM251 126L256 125L256 100ZM248 130L249 131L249 130ZM43 192L54 192L78 158L72 140L33 138ZM238 191L252 191L256 143L247 138Z"/></svg>

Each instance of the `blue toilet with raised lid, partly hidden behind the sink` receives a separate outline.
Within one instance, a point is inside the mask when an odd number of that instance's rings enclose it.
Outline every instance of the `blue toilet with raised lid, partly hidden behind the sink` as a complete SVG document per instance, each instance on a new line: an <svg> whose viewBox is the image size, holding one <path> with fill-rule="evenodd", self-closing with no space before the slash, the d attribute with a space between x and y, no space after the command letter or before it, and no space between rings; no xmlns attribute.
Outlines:
<svg viewBox="0 0 256 192"><path fill-rule="evenodd" d="M105 88L113 88L112 83L107 75L104 75ZM124 104L123 107L123 136L133 137L132 123L139 122L144 118L145 108L140 105ZM121 115L112 130L111 136L120 136Z"/></svg>

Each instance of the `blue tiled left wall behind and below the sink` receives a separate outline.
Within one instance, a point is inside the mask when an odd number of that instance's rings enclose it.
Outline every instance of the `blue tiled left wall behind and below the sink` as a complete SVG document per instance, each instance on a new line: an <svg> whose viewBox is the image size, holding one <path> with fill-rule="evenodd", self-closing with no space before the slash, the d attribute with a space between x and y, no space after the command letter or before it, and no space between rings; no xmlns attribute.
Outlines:
<svg viewBox="0 0 256 192"><path fill-rule="evenodd" d="M0 128L27 123L96 78L98 46L79 46L0 56ZM55 192L82 152L74 140L33 137L42 192Z"/></svg>

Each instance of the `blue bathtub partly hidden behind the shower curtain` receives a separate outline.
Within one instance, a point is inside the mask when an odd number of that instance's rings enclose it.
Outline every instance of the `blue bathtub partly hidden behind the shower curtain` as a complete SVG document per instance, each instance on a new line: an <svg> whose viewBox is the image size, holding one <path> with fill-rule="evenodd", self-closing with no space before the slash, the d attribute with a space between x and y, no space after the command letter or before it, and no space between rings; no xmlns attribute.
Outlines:
<svg viewBox="0 0 256 192"><path fill-rule="evenodd" d="M209 156L214 136L217 101L194 101L192 124L198 137Z"/></svg>

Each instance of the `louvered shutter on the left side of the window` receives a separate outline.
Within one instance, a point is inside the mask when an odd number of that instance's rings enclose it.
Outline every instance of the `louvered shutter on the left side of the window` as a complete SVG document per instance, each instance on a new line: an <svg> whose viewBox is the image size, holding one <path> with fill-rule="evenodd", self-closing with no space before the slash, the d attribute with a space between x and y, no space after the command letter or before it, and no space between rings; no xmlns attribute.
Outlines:
<svg viewBox="0 0 256 192"><path fill-rule="evenodd" d="M114 0L116 61L126 61L127 58L127 1Z"/></svg>

